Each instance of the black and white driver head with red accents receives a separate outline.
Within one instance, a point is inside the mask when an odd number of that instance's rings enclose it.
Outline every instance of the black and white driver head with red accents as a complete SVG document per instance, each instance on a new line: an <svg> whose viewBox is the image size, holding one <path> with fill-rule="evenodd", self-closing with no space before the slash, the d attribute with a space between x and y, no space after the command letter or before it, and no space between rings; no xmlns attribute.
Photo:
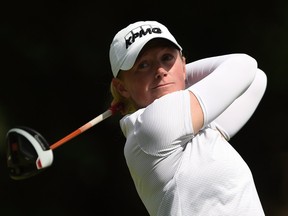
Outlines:
<svg viewBox="0 0 288 216"><path fill-rule="evenodd" d="M12 128L6 138L7 166L12 179L29 178L52 164L52 150L37 131L28 127Z"/></svg>

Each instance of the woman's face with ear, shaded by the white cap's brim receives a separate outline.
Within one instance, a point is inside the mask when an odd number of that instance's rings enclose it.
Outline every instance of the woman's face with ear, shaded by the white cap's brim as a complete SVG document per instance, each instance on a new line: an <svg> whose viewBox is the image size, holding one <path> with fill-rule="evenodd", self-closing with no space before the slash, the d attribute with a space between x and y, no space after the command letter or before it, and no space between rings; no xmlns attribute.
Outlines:
<svg viewBox="0 0 288 216"><path fill-rule="evenodd" d="M174 47L153 46L139 55L134 66L120 72L113 84L138 108L155 99L185 88L185 59Z"/></svg>

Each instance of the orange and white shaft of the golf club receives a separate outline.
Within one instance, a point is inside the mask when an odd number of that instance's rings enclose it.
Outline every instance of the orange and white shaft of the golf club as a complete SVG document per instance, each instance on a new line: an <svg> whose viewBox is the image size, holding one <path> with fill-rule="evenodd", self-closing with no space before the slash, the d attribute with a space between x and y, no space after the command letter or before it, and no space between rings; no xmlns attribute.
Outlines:
<svg viewBox="0 0 288 216"><path fill-rule="evenodd" d="M98 124L99 122L103 121L104 119L108 118L109 116L111 116L113 114L113 111L111 109L108 109L107 111L103 112L102 114L98 115L97 117L95 117L94 119L92 119L91 121L87 122L86 124L84 124L83 126L81 126L80 128L76 129L75 131L73 131L72 133L68 134L67 136L63 137L62 139L60 139L59 141L55 142L54 144L52 144L50 146L50 149L55 149L59 146L61 146L62 144L66 143L67 141L71 140L72 138L78 136L79 134L83 133L84 131L90 129L91 127L93 127L94 125Z"/></svg>

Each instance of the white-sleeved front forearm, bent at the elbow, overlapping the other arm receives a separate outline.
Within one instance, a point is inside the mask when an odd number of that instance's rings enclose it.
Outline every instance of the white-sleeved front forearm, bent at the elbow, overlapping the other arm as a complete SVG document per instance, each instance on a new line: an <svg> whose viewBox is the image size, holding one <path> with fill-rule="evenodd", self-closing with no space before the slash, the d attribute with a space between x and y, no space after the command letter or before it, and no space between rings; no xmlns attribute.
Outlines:
<svg viewBox="0 0 288 216"><path fill-rule="evenodd" d="M215 63L213 73L188 88L201 105L203 126L215 120L248 89L257 71L255 59L245 54L237 54L220 62ZM193 116L193 107L191 113Z"/></svg>

